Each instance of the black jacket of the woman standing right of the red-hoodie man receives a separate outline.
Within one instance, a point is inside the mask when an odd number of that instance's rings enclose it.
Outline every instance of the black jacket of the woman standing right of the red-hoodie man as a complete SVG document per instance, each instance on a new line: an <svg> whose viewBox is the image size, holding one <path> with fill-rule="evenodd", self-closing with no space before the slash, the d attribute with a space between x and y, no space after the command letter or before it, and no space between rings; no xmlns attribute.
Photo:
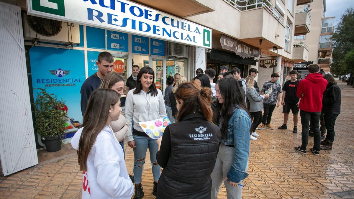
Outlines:
<svg viewBox="0 0 354 199"><path fill-rule="evenodd" d="M329 84L322 97L323 114L341 113L342 91L337 84Z"/></svg>

